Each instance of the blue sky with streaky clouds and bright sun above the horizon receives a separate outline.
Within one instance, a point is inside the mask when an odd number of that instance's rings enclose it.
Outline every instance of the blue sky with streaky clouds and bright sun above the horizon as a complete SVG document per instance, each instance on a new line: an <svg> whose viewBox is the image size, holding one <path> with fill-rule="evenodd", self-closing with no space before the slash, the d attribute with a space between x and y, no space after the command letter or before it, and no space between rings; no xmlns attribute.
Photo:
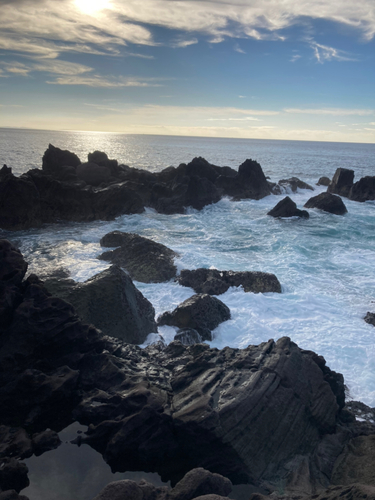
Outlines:
<svg viewBox="0 0 375 500"><path fill-rule="evenodd" d="M375 143L375 0L0 0L0 127Z"/></svg>

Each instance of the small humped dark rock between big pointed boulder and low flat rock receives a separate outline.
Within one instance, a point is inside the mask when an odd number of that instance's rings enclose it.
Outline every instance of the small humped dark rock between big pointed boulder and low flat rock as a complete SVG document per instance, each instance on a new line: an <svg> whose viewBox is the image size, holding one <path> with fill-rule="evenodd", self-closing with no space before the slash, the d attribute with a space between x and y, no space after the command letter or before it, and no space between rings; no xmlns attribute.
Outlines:
<svg viewBox="0 0 375 500"><path fill-rule="evenodd" d="M159 316L158 325L193 328L203 340L212 340L211 330L228 319L229 308L221 300L207 294L197 294L182 302L174 311Z"/></svg>

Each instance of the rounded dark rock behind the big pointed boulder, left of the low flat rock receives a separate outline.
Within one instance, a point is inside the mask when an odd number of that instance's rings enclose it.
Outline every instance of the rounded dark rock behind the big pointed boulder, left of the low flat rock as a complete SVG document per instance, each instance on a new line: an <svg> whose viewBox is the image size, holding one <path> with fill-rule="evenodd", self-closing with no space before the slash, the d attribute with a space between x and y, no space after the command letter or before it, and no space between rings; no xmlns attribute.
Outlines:
<svg viewBox="0 0 375 500"><path fill-rule="evenodd" d="M133 233L113 231L100 240L104 247L119 246L100 255L99 259L124 267L132 279L144 283L160 283L174 278L176 252L161 243Z"/></svg>

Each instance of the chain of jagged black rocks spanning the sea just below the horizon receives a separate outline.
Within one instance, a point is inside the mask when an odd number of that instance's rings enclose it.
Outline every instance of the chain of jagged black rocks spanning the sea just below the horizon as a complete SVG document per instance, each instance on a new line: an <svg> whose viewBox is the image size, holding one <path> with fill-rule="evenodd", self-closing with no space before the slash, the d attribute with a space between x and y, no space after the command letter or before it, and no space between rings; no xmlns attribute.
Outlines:
<svg viewBox="0 0 375 500"><path fill-rule="evenodd" d="M177 168L152 173L119 165L100 151L90 153L88 161L81 162L74 153L50 144L42 162L42 169L29 170L20 177L6 165L0 170L0 228L28 229L61 220L112 220L123 214L142 213L145 207L163 214L184 213L186 207L201 210L222 197L259 200L271 193L314 189L296 177L272 183L259 163L251 159L244 161L238 171L194 158ZM328 185L329 193L311 198L307 208L342 215L346 207L335 195L355 201L375 199L375 177L354 183L352 170L337 169L332 182L322 179L318 184ZM308 212L294 205L286 198L269 215L308 217Z"/></svg>

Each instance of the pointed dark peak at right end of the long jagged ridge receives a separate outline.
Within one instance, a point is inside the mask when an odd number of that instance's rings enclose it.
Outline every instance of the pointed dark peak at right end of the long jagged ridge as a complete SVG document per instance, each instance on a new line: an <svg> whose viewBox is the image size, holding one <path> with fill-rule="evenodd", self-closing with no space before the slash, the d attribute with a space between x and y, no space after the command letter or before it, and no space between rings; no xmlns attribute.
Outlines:
<svg viewBox="0 0 375 500"><path fill-rule="evenodd" d="M221 175L216 180L224 196L231 196L235 200L251 198L260 200L271 194L268 181L262 167L254 160L246 160L238 168L236 176Z"/></svg>

